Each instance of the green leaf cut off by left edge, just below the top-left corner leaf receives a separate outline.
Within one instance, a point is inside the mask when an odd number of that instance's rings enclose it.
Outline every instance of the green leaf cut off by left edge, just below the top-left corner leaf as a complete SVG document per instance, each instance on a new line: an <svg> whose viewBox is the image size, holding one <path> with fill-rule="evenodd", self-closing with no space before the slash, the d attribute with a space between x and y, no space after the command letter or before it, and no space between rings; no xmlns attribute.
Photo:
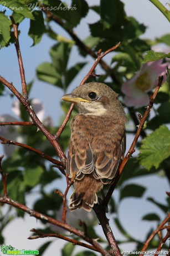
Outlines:
<svg viewBox="0 0 170 256"><path fill-rule="evenodd" d="M3 13L0 13L0 48L4 47L10 38L11 20Z"/></svg>

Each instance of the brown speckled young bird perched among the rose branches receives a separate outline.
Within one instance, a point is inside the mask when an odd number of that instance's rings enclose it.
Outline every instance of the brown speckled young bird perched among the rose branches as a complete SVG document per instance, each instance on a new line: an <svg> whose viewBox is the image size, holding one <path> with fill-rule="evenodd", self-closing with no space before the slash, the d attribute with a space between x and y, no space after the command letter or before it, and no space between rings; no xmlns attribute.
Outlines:
<svg viewBox="0 0 170 256"><path fill-rule="evenodd" d="M91 211L105 184L111 184L125 154L126 116L118 95L104 83L90 82L61 97L74 102L66 173L74 179L71 210Z"/></svg>

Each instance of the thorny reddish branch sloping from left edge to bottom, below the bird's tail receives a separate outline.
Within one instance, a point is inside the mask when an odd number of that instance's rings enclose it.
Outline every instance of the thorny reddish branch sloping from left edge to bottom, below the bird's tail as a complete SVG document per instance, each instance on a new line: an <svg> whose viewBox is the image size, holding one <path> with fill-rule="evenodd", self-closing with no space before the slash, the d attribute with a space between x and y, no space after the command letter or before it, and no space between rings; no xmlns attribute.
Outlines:
<svg viewBox="0 0 170 256"><path fill-rule="evenodd" d="M103 249L100 246L100 244L96 242L95 239L91 239L89 237L86 237L84 232L81 232L80 230L72 227L69 224L63 223L63 222L61 222L59 220L56 220L56 219L53 219L53 218L51 218L47 215L44 215L42 213L38 213L38 211L34 211L34 210L28 208L27 206L25 206L23 204L20 204L17 201L12 200L11 198L8 198L7 196L0 197L0 202L12 205L15 208L18 208L22 211L25 211L25 213L28 213L30 216L33 216L36 219L45 220L48 223L51 223L51 224L56 225L60 228L63 228L65 230L69 231L70 233L73 233L73 234L77 235L78 237L84 239L87 243L90 243L96 249L96 251L100 252L102 255L110 256L110 254L105 249Z"/></svg>

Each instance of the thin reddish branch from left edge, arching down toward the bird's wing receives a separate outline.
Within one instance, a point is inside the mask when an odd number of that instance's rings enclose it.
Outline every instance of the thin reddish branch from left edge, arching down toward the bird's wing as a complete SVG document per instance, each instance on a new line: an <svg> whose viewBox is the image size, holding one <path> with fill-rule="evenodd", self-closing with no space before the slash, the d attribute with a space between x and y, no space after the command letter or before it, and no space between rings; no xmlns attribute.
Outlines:
<svg viewBox="0 0 170 256"><path fill-rule="evenodd" d="M63 163L58 161L58 160L56 160L56 159L54 159L53 157L50 157L49 155L46 155L44 152L42 152L42 151L40 151L38 149L34 149L34 147L31 147L31 146L28 146L28 145L25 145L25 144L22 144L22 143L13 141L13 140L4 139L1 136L0 136L0 140L2 141L1 144L16 145L16 146L24 147L24 149L28 149L30 151L33 151L34 153L42 156L44 159L47 159L51 163L53 163L56 166L58 166L59 170L61 171L61 173L65 175L64 168L63 168ZM61 168L63 168L63 169L61 169Z"/></svg>

